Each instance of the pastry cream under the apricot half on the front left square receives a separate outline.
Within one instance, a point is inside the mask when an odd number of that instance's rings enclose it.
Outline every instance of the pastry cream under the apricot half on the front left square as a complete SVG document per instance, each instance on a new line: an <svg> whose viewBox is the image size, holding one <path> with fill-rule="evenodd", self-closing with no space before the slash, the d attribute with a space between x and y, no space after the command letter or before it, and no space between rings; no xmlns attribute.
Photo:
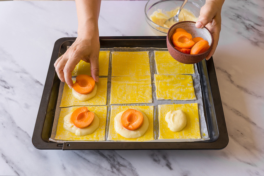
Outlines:
<svg viewBox="0 0 264 176"><path fill-rule="evenodd" d="M71 133L74 133L76 136L86 136L88 134L92 134L99 127L100 119L95 113L94 120L86 128L77 128L71 121L71 115L72 112L64 117L63 128Z"/></svg>

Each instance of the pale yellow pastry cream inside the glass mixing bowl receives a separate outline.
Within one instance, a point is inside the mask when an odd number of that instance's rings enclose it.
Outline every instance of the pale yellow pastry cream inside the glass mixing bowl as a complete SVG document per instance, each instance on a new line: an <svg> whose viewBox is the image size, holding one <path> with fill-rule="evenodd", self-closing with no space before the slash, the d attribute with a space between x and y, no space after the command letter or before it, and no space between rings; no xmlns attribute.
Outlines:
<svg viewBox="0 0 264 176"><path fill-rule="evenodd" d="M163 11L162 9L158 9L157 11L154 11L152 15L150 15L150 20L153 21L154 23L158 24L159 26L163 26L165 28L170 28L173 24L172 23L170 26L165 25L165 21L173 16L175 16L178 12L180 7L177 7L174 10L171 11ZM180 14L179 14L179 22L180 21L194 21L196 22L198 18L194 16L194 14L187 9L182 9Z"/></svg>

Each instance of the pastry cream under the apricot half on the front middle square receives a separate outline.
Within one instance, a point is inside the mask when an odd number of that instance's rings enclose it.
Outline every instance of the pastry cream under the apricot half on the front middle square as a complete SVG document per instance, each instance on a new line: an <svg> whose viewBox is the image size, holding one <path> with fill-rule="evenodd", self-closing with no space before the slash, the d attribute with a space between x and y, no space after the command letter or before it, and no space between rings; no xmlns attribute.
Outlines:
<svg viewBox="0 0 264 176"><path fill-rule="evenodd" d="M139 111L139 110L137 110L137 111ZM124 138L139 138L139 137L143 136L145 134L145 132L148 130L148 126L149 126L148 117L142 111L139 111L143 115L143 124L138 129L132 131L132 130L128 130L122 126L121 116L122 116L123 112L125 112L125 111L118 113L114 118L114 128L115 128L116 133L120 134Z"/></svg>

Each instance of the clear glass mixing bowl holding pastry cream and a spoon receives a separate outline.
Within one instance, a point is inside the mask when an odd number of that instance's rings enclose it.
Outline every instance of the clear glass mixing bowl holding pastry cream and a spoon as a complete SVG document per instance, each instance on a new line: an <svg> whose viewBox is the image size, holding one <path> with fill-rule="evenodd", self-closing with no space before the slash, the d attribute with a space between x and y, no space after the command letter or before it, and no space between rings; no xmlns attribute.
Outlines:
<svg viewBox="0 0 264 176"><path fill-rule="evenodd" d="M145 18L149 26L154 30L154 32L158 35L166 34L169 28L165 28L163 26L159 26L158 24L154 23L150 16L153 14L154 11L158 11L161 9L162 11L171 11L180 7L184 0L149 0L145 5ZM204 5L202 0L188 0L184 9L192 12L195 17L198 18L200 15L200 9Z"/></svg>

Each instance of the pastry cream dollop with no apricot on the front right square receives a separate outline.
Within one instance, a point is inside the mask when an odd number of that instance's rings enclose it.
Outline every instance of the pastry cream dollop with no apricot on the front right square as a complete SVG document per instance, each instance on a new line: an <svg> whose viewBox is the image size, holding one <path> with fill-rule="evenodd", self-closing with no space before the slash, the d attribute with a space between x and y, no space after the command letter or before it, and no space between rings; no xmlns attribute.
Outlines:
<svg viewBox="0 0 264 176"><path fill-rule="evenodd" d="M165 121L168 123L168 128L173 132L182 131L187 124L186 116L181 109L167 112Z"/></svg>

